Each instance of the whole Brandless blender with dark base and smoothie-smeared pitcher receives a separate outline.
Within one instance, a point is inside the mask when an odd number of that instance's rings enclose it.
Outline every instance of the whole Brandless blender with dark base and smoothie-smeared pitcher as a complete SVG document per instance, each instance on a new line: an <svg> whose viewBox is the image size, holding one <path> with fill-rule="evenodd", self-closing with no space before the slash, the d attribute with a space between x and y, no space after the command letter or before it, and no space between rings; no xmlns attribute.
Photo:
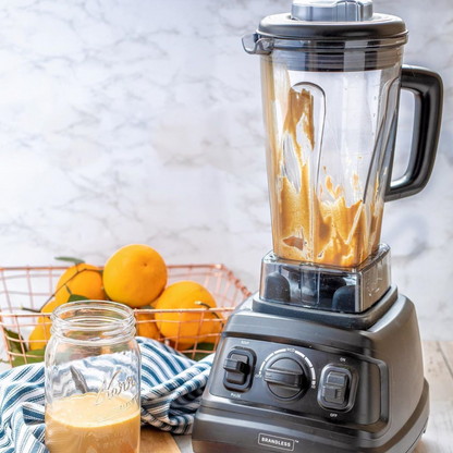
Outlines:
<svg viewBox="0 0 453 453"><path fill-rule="evenodd" d="M273 250L225 326L196 453L406 453L426 430L415 307L380 242L384 203L425 187L440 132L442 81L402 64L406 41L370 0L294 0L243 38L260 56ZM401 88L414 133L392 180Z"/></svg>

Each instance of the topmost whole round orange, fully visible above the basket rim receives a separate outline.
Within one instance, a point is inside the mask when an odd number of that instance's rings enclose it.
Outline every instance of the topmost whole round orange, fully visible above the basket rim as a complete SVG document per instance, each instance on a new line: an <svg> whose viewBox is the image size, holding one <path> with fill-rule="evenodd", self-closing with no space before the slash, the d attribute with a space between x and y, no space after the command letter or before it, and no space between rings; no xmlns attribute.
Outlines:
<svg viewBox="0 0 453 453"><path fill-rule="evenodd" d="M103 269L103 287L112 301L133 308L151 304L167 285L167 266L147 245L126 245Z"/></svg>

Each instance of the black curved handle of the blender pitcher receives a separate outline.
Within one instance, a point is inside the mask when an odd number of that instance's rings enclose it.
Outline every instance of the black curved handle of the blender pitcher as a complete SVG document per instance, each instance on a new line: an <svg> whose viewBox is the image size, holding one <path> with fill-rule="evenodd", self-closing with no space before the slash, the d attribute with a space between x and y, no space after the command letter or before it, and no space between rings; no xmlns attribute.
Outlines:
<svg viewBox="0 0 453 453"><path fill-rule="evenodd" d="M443 84L439 74L403 65L401 87L415 96L412 149L407 170L390 183L385 201L409 197L425 188L434 166L442 120Z"/></svg>

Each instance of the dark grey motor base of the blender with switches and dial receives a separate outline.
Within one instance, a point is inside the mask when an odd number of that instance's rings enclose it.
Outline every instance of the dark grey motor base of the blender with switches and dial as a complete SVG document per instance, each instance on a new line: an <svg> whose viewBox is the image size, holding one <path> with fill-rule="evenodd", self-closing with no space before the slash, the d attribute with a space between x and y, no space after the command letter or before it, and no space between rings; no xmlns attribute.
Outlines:
<svg viewBox="0 0 453 453"><path fill-rule="evenodd" d="M414 451L428 423L429 387L414 304L395 287L391 293L388 311L365 330L256 313L253 297L246 301L225 327L196 415L194 451ZM225 360L241 354L249 374L231 383ZM287 377L297 366L303 390L292 394ZM331 369L350 376L346 406L323 400ZM276 376L286 387L276 385Z"/></svg>

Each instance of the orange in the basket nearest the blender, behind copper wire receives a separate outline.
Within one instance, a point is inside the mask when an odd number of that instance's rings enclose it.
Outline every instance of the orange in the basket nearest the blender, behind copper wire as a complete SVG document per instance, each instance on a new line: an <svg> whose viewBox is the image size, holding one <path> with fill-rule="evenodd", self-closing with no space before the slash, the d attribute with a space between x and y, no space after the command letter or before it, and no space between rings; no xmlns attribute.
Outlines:
<svg viewBox="0 0 453 453"><path fill-rule="evenodd" d="M160 333L171 339L177 339L177 347L184 350L196 341L201 343L209 333L218 332L219 321L213 313L159 313L162 309L216 308L216 301L206 287L192 281L171 284L159 297L156 305L155 318Z"/></svg>

